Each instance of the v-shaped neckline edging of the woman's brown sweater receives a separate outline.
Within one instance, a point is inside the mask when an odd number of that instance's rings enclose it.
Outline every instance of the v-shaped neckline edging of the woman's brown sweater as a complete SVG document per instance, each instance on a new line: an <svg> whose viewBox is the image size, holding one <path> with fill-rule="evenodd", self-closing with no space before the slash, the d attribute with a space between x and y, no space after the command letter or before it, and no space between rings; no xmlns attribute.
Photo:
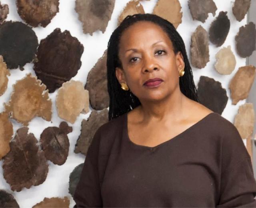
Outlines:
<svg viewBox="0 0 256 208"><path fill-rule="evenodd" d="M129 143L131 143L131 145L135 146L135 147L140 147L140 148L143 148L143 149L149 149L149 150L155 150L156 148L162 146L162 145L165 145L167 143L170 143L170 141L174 141L176 139L178 139L179 137L181 137L182 135L184 135L185 133L187 133L188 131L192 130L193 128L195 128L196 126L198 126L199 124L201 124L203 121L205 121L207 118L209 118L211 115L214 115L214 114L217 114L216 112L211 112L210 114L207 114L206 116L204 116L204 118L202 118L201 120L199 120L198 122L196 122L195 124L193 124L192 126L190 126L189 128L187 128L186 130L182 131L181 133L179 133L178 135L172 137L171 139L168 139L154 147L149 147L149 146L145 146L145 145L139 145L139 144L136 144L134 143L129 135L128 135L128 113L125 114L125 118L124 118L124 124L125 124L125 127L124 127L124 133L125 133L125 136L126 136L126 139L128 140Z"/></svg>

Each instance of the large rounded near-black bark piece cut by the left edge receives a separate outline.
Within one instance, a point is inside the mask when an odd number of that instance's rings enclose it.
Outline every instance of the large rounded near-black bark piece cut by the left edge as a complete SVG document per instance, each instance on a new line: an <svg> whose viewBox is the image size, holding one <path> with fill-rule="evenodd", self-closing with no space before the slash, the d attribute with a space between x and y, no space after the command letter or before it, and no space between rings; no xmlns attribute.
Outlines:
<svg viewBox="0 0 256 208"><path fill-rule="evenodd" d="M8 69L16 69L35 58L38 39L34 30L22 22L7 21L0 25L0 55Z"/></svg>

